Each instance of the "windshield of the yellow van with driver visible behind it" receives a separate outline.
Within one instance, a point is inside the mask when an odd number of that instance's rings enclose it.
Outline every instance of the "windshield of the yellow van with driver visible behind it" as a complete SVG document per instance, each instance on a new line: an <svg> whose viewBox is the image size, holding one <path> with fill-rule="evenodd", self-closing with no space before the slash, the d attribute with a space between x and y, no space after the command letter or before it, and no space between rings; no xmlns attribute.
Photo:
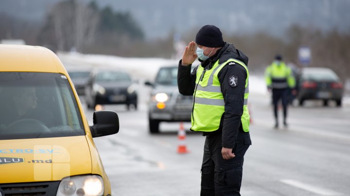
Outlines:
<svg viewBox="0 0 350 196"><path fill-rule="evenodd" d="M85 135L67 77L0 72L0 140Z"/></svg>

